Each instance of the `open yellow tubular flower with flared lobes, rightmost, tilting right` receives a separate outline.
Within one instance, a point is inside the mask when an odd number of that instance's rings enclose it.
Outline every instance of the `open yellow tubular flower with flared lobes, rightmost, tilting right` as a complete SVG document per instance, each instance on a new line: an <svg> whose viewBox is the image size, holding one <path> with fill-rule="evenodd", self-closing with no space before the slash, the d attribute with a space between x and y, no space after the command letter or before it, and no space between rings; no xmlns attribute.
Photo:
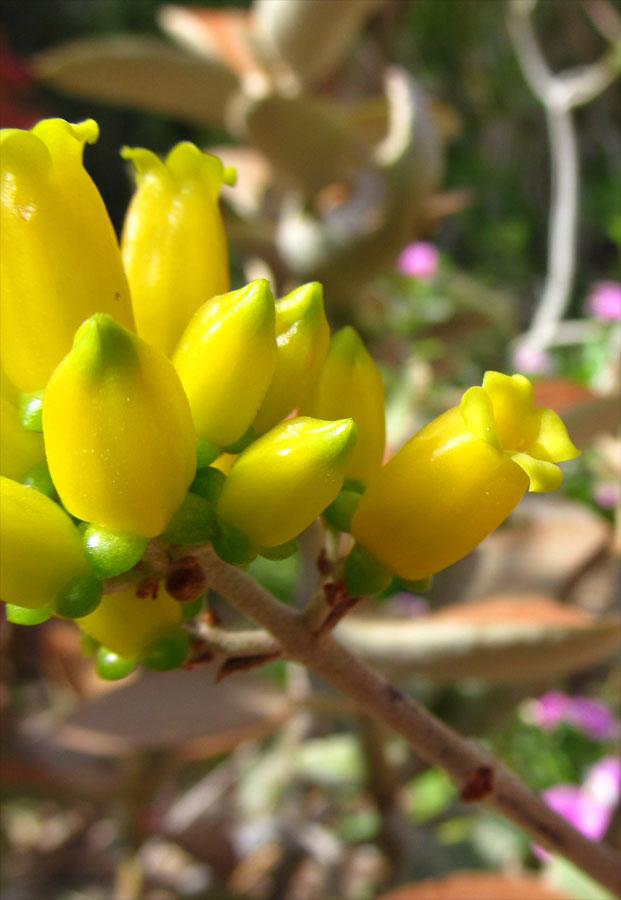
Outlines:
<svg viewBox="0 0 621 900"><path fill-rule="evenodd" d="M528 488L550 491L555 462L579 451L550 409L533 408L523 375L487 372L454 407L410 438L376 474L352 534L396 575L427 578L500 525Z"/></svg>

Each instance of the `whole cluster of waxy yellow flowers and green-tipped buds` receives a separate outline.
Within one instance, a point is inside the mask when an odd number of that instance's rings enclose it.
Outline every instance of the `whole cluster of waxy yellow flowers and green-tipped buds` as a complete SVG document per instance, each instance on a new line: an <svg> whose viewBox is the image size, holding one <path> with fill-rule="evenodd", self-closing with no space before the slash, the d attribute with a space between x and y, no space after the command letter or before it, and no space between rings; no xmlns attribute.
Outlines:
<svg viewBox="0 0 621 900"><path fill-rule="evenodd" d="M82 165L89 120L2 133L2 517L9 618L76 619L119 677L176 666L191 615L160 585L103 591L164 552L295 551L319 515L350 531L370 592L468 553L577 451L522 376L490 372L382 466L384 390L321 285L231 290L213 156L125 148L137 187L120 247ZM110 585L108 585L109 587Z"/></svg>

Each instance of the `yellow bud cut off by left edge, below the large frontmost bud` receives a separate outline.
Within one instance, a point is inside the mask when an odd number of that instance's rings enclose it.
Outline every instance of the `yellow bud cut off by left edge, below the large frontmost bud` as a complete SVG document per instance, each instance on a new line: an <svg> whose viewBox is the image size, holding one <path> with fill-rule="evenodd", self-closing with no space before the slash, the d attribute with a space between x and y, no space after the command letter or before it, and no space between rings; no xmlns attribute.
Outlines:
<svg viewBox="0 0 621 900"><path fill-rule="evenodd" d="M0 477L0 597L38 609L88 571L80 534L49 497Z"/></svg>

